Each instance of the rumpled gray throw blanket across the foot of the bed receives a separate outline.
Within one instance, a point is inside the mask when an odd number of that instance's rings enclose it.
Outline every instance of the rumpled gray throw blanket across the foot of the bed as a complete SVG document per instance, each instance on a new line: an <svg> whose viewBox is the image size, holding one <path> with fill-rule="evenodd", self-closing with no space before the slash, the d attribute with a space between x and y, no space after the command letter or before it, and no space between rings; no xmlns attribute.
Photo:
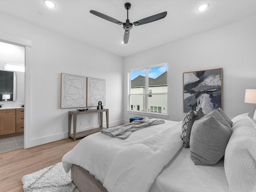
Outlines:
<svg viewBox="0 0 256 192"><path fill-rule="evenodd" d="M119 125L119 126L108 128L108 129L102 129L100 130L100 132L111 137L127 139L130 136L130 134L132 134L133 131L142 129L144 127L163 124L163 123L164 123L164 120L144 118L142 120L134 120L133 122L128 124Z"/></svg>

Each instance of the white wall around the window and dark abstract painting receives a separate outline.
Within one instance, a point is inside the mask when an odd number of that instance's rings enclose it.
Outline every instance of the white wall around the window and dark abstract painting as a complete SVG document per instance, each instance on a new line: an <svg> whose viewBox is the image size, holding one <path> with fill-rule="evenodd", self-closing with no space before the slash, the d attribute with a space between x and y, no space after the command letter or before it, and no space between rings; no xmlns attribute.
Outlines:
<svg viewBox="0 0 256 192"><path fill-rule="evenodd" d="M146 115L127 112L128 70L168 63L168 120L181 121L183 72L223 68L223 110L234 116L250 112L245 89L256 89L256 16L196 34L124 58L124 120Z"/></svg>

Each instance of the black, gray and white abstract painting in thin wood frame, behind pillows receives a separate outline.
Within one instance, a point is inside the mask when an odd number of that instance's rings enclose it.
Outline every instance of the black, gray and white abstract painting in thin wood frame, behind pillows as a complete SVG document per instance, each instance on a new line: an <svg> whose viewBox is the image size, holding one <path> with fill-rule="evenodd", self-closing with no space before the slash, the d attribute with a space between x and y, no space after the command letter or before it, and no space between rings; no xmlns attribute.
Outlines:
<svg viewBox="0 0 256 192"><path fill-rule="evenodd" d="M222 108L222 68L183 73L183 112Z"/></svg>

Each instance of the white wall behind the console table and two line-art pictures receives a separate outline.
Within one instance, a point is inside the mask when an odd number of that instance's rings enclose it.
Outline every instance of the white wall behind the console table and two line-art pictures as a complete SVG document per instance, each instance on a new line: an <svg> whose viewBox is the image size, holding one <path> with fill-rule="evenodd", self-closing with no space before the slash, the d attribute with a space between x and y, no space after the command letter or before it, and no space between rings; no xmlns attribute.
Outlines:
<svg viewBox="0 0 256 192"><path fill-rule="evenodd" d="M104 108L109 109L110 126L122 123L122 57L6 14L0 13L0 18L2 32L32 42L31 66L25 72L25 93L31 97L30 103L25 103L27 114L31 114L25 116L26 148L68 137L68 111L76 108L60 108L60 73L105 79ZM99 125L98 114L81 115L80 121L80 130Z"/></svg>

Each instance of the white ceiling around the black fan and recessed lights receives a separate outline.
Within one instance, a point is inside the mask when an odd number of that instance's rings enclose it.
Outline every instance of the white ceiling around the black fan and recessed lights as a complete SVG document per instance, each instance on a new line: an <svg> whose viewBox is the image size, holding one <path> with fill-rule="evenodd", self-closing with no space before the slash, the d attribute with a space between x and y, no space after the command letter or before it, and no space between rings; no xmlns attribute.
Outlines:
<svg viewBox="0 0 256 192"><path fill-rule="evenodd" d="M64 34L118 56L128 56L256 15L256 0L0 0L0 11ZM128 44L121 44L122 26L90 13L96 10L125 22L124 4L132 4L130 22L167 11L161 20L134 26ZM204 12L196 8L210 4ZM41 13L41 14L39 14Z"/></svg>

